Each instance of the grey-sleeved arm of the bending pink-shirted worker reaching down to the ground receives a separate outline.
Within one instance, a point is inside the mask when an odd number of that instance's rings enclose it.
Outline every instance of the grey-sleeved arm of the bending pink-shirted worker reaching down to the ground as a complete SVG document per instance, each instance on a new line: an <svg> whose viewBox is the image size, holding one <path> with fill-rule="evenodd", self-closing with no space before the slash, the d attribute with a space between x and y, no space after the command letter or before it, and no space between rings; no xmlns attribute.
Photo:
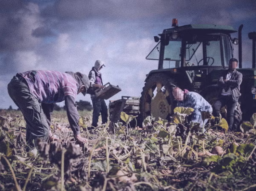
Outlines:
<svg viewBox="0 0 256 191"><path fill-rule="evenodd" d="M80 135L80 126L78 124L79 114L78 114L77 106L75 103L75 98L71 95L66 95L65 96L65 106L66 106L68 120L70 123L70 128L74 133L74 137L80 143L85 142L86 139L82 138Z"/></svg>

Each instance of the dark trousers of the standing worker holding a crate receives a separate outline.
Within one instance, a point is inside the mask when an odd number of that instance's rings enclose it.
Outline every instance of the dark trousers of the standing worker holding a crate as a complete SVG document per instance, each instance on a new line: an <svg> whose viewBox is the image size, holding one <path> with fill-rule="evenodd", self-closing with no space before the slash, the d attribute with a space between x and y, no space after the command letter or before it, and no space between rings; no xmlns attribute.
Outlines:
<svg viewBox="0 0 256 191"><path fill-rule="evenodd" d="M93 102L93 127L97 127L97 122L99 120L99 116L101 114L102 123L108 122L108 107L105 103L104 99L96 98L92 96Z"/></svg>

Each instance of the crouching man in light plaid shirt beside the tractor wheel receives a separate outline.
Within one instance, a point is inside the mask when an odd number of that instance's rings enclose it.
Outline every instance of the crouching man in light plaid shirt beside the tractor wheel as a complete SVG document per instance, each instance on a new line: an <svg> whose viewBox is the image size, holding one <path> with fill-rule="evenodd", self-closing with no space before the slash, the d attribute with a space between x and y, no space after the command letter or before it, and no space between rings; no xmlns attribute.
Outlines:
<svg viewBox="0 0 256 191"><path fill-rule="evenodd" d="M172 91L174 98L178 101L178 107L191 107L194 109L192 112L192 122L200 123L203 125L201 111L213 112L212 106L198 93L189 92L188 90L182 91L182 89L175 87Z"/></svg>

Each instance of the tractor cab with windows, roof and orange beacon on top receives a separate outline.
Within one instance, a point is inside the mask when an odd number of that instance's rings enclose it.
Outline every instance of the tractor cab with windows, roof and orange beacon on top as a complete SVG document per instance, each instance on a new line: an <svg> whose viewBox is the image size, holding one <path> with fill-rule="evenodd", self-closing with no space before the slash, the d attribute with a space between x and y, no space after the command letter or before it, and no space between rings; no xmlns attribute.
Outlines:
<svg viewBox="0 0 256 191"><path fill-rule="evenodd" d="M213 66L227 68L233 57L231 33L237 32L230 26L185 25L163 30L155 36L159 42L146 59L159 60L158 69L189 66ZM234 41L237 42L237 41Z"/></svg>

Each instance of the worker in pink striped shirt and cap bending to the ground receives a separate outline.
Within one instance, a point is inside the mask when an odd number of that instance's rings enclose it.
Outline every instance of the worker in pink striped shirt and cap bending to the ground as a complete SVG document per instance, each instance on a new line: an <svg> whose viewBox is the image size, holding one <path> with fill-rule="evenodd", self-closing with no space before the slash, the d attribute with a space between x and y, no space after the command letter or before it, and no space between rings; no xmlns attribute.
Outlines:
<svg viewBox="0 0 256 191"><path fill-rule="evenodd" d="M81 73L32 70L12 78L8 93L27 123L27 151L35 154L37 142L48 141L54 104L64 100L74 138L79 143L86 141L80 135L75 99L80 92L85 95L88 88L89 78Z"/></svg>

